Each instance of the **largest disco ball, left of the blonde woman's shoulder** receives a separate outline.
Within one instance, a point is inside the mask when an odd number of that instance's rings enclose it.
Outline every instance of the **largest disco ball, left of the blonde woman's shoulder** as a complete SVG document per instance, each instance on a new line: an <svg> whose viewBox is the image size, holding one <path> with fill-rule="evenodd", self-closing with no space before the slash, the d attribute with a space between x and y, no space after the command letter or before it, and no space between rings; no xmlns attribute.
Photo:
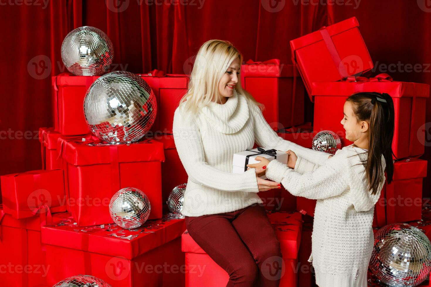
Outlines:
<svg viewBox="0 0 431 287"><path fill-rule="evenodd" d="M138 75L114 71L98 78L87 90L84 114L99 139L110 144L136 142L154 123L156 96Z"/></svg>

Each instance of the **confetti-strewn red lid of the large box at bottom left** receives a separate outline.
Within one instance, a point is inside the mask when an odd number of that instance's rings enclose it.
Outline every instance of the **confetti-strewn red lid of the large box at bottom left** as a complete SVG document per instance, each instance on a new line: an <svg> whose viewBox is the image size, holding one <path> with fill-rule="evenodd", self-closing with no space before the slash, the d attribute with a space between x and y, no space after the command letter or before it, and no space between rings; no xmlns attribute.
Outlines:
<svg viewBox="0 0 431 287"><path fill-rule="evenodd" d="M174 219L168 214L162 219L147 220L142 227L132 230L115 224L78 227L72 219L64 219L42 226L41 238L43 244L133 259L178 238L184 230L185 219Z"/></svg>

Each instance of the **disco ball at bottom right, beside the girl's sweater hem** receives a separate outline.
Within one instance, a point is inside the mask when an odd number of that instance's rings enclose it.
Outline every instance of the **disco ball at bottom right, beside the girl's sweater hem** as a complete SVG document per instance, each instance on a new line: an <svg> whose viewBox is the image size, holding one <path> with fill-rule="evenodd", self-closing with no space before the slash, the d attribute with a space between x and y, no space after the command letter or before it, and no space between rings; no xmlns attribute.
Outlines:
<svg viewBox="0 0 431 287"><path fill-rule="evenodd" d="M431 243L417 227L386 225L375 235L369 267L384 284L416 286L430 274Z"/></svg>

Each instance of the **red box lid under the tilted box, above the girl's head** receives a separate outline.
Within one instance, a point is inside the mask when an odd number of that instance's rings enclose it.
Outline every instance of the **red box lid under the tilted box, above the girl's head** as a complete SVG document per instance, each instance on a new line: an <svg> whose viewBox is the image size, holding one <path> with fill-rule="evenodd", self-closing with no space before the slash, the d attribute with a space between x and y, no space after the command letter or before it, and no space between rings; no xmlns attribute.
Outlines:
<svg viewBox="0 0 431 287"><path fill-rule="evenodd" d="M428 98L428 84L411 82L314 82L313 96L350 96L358 92L388 93L393 98Z"/></svg>

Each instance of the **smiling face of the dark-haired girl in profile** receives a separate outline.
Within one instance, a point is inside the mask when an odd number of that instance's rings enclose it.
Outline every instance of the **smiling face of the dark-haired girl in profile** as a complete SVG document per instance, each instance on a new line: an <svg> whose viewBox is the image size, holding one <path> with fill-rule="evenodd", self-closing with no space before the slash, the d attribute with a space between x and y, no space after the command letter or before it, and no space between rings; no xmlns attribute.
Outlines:
<svg viewBox="0 0 431 287"><path fill-rule="evenodd" d="M367 136L368 123L365 121L358 121L353 112L353 103L346 101L344 103L344 114L341 124L346 130L346 139L350 142L355 142L362 137Z"/></svg>

